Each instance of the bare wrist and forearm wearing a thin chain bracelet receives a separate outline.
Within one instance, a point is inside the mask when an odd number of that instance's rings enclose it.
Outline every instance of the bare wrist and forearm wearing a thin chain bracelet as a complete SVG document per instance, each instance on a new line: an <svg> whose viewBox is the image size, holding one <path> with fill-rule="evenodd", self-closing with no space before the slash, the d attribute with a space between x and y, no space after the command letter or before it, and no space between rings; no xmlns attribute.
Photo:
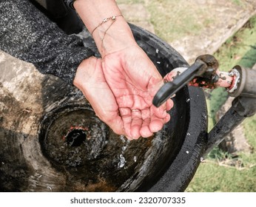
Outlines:
<svg viewBox="0 0 256 207"><path fill-rule="evenodd" d="M119 16L121 11L114 0L97 0L96 3L76 0L74 7L89 32L93 31L92 36L102 57L135 44L132 31L124 17ZM115 21L110 19L102 23L112 16L116 16Z"/></svg>

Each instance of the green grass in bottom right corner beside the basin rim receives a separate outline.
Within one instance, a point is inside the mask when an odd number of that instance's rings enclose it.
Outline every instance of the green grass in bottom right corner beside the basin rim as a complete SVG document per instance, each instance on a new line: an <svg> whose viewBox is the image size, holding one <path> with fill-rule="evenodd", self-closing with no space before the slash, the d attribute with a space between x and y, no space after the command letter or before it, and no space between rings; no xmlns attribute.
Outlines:
<svg viewBox="0 0 256 207"><path fill-rule="evenodd" d="M198 171L200 177L195 176L186 191L255 192L256 167L238 169L208 160Z"/></svg>

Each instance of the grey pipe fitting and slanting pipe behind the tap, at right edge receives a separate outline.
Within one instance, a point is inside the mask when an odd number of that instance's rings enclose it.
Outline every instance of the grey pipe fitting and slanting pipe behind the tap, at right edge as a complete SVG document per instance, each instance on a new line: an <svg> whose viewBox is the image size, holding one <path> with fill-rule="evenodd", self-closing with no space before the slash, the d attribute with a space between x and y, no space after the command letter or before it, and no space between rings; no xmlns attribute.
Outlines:
<svg viewBox="0 0 256 207"><path fill-rule="evenodd" d="M244 69L240 66L235 66L233 69L239 72L240 77L236 81L238 85L234 92L229 91L229 95L237 98L232 101L230 109L209 132L204 155L207 155L223 141L226 135L232 132L245 118L256 113L256 69Z"/></svg>

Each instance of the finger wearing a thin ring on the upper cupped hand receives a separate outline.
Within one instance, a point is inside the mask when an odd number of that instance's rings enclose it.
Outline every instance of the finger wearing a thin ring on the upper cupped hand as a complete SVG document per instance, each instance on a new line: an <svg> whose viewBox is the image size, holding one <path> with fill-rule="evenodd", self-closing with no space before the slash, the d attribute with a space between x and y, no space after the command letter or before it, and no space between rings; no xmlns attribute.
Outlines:
<svg viewBox="0 0 256 207"><path fill-rule="evenodd" d="M132 110L132 122L131 122L131 135L132 138L138 139L141 137L141 126L142 126L141 110Z"/></svg>

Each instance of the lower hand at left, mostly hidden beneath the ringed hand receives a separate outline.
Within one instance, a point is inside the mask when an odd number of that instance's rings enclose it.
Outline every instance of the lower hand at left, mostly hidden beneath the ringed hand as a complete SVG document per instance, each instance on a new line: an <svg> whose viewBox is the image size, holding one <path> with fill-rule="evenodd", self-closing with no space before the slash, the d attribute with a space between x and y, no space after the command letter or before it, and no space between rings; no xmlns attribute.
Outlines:
<svg viewBox="0 0 256 207"><path fill-rule="evenodd" d="M115 96L104 78L101 59L91 57L82 61L73 84L83 92L101 121L116 134L126 135Z"/></svg>

